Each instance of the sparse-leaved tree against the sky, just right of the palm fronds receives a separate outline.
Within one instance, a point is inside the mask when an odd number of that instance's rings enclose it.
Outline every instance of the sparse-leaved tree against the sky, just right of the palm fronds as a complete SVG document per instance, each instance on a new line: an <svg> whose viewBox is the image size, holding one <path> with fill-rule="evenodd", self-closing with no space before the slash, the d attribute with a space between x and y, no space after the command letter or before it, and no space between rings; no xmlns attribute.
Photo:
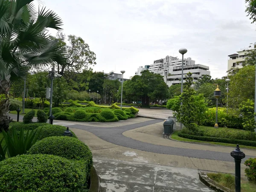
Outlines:
<svg viewBox="0 0 256 192"><path fill-rule="evenodd" d="M68 51L68 61L66 64L57 65L59 74L63 75L64 71L81 72L81 70L87 69L89 65L96 64L96 54L90 50L89 45L81 37L68 35L66 42L66 36L58 32L56 37L51 38L57 40L58 44L66 47Z"/></svg>

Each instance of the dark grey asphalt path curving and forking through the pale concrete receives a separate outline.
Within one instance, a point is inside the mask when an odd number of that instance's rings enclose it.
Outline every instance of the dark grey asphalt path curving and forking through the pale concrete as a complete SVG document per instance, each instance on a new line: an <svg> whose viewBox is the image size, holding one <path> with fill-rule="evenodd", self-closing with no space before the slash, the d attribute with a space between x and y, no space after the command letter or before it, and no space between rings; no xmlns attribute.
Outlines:
<svg viewBox="0 0 256 192"><path fill-rule="evenodd" d="M204 151L198 149L189 149L189 148L178 148L171 146L163 146L163 145L155 145L151 143L145 143L142 141L134 140L129 137L125 137L122 135L123 132L140 128L147 125L156 124L159 122L163 122L161 120L149 120L146 122L135 123L131 125L119 126L119 127L96 127L96 126L88 126L87 125L71 125L73 128L82 129L85 131L89 131L99 138L108 141L110 143L121 145L128 148L134 148L141 151L148 151L158 154L171 154L171 155L179 155L186 157L195 157L201 159L209 159L209 160L221 160L221 161L234 161L233 157L224 152L217 151ZM188 144L189 145L189 144ZM247 158L253 156L247 156Z"/></svg>

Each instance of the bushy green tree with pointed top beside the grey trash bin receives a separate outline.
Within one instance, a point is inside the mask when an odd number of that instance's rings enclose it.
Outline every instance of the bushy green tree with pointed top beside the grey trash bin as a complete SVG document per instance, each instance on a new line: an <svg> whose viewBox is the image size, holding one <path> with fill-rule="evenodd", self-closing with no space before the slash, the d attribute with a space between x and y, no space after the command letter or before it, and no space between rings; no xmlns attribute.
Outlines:
<svg viewBox="0 0 256 192"><path fill-rule="evenodd" d="M175 96L174 99L169 99L167 108L174 111L178 122L182 122L190 131L196 131L196 123L200 123L204 120L207 103L205 102L203 94L196 95L192 84L192 73L189 72L186 75L184 92L181 93L180 96ZM180 105L181 102L183 105Z"/></svg>

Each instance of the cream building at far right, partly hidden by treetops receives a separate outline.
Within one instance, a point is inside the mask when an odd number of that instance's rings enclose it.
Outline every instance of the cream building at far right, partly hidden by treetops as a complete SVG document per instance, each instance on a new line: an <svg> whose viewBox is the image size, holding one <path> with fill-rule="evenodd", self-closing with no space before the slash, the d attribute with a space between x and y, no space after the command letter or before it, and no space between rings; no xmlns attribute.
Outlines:
<svg viewBox="0 0 256 192"><path fill-rule="evenodd" d="M240 51L237 51L237 53L227 55L228 61L227 61L227 70L230 70L231 67L238 67L242 68L242 63L245 60L246 54L249 50L252 50L253 47L250 45L247 48L243 48Z"/></svg>

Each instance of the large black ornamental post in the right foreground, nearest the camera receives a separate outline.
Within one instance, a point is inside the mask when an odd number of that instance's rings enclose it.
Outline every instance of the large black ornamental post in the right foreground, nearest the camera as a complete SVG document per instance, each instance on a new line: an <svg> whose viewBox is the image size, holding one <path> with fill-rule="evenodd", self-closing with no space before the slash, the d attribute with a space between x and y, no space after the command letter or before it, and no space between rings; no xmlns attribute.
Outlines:
<svg viewBox="0 0 256 192"><path fill-rule="evenodd" d="M241 192L241 159L245 157L243 151L240 150L239 145L236 145L236 149L230 153L235 159L235 182L236 192Z"/></svg>

